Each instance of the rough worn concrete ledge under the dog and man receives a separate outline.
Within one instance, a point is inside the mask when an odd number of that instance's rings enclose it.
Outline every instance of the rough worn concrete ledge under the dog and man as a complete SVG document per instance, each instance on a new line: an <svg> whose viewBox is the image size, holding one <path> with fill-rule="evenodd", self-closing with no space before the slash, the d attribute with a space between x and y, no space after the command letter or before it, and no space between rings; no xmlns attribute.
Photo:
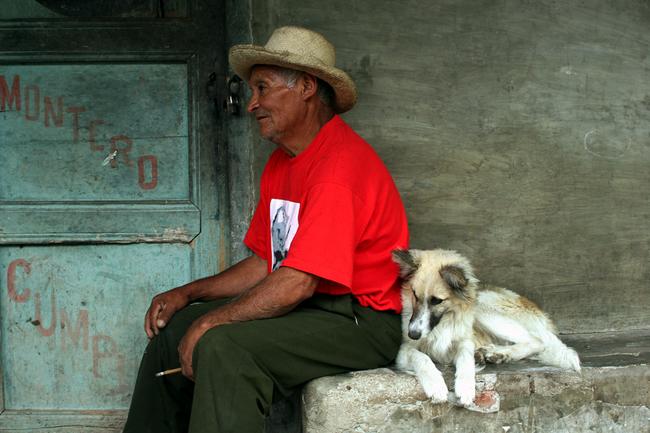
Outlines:
<svg viewBox="0 0 650 433"><path fill-rule="evenodd" d="M650 433L650 330L562 339L580 354L581 374L533 361L478 373L477 382L494 389L494 413L432 404L414 376L384 368L307 384L302 431ZM452 369L444 374L453 384Z"/></svg>

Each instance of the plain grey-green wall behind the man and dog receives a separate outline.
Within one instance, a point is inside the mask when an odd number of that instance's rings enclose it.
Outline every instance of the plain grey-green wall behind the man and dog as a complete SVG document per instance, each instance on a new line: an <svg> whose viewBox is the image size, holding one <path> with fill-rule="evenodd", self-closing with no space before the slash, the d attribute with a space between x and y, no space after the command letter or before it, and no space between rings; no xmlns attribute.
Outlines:
<svg viewBox="0 0 650 433"><path fill-rule="evenodd" d="M335 44L360 94L344 117L392 171L413 247L468 255L562 332L648 327L648 1L233 7L256 43L296 24ZM249 143L255 183L270 145Z"/></svg>

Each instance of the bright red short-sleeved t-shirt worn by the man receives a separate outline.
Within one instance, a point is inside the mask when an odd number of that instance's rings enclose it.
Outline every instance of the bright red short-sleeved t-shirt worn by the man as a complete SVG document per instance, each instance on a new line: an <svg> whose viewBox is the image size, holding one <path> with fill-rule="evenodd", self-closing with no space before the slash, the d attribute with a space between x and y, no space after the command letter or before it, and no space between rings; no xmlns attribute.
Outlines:
<svg viewBox="0 0 650 433"><path fill-rule="evenodd" d="M391 251L408 247L404 205L379 156L339 116L296 157L273 152L244 242L270 272L320 277L317 292L402 309Z"/></svg>

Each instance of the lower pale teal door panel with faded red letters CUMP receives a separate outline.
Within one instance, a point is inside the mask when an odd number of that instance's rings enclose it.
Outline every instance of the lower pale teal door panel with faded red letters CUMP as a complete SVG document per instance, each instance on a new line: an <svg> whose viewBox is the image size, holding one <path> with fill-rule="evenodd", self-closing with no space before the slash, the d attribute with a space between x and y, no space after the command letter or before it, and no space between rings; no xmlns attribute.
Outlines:
<svg viewBox="0 0 650 433"><path fill-rule="evenodd" d="M5 408L123 409L151 296L190 279L183 244L4 248Z"/></svg>

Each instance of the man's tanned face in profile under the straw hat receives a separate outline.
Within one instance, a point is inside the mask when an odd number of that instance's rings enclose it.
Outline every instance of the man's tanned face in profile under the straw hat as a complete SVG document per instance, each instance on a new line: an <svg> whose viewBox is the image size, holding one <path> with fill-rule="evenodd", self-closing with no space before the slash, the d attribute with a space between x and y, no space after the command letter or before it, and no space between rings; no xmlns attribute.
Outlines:
<svg viewBox="0 0 650 433"><path fill-rule="evenodd" d="M299 79L289 88L275 67L253 68L248 81L252 96L247 109L255 115L263 138L281 145L295 133L304 111L300 83Z"/></svg>

